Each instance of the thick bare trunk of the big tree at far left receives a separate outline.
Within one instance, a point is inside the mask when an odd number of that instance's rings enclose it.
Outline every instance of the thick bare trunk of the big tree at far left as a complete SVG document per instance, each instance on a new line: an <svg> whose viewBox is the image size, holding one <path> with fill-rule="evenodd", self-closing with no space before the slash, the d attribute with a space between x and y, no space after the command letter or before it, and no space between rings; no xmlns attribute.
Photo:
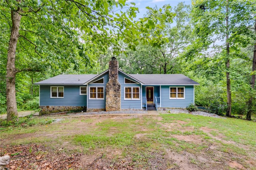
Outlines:
<svg viewBox="0 0 256 170"><path fill-rule="evenodd" d="M20 8L17 9L20 11ZM19 37L19 25L21 15L16 11L11 11L12 17L12 29L10 34L10 41L7 53L7 65L6 65L6 105L7 105L7 121L15 122L18 120L18 111L15 94L15 52L17 47L17 41Z"/></svg>

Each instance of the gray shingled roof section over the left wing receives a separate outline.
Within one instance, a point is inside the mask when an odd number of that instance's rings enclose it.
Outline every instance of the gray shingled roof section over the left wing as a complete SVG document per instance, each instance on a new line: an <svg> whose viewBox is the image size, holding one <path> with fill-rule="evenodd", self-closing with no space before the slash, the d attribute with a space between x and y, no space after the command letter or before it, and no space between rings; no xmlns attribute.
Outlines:
<svg viewBox="0 0 256 170"><path fill-rule="evenodd" d="M60 74L35 84L84 84L95 76L97 74Z"/></svg>

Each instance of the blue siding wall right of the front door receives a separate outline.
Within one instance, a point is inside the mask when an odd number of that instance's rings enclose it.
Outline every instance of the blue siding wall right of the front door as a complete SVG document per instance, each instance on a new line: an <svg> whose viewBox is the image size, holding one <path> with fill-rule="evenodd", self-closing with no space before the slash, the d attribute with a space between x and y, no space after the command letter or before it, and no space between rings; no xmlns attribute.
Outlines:
<svg viewBox="0 0 256 170"><path fill-rule="evenodd" d="M190 103L194 103L194 86L185 86L185 99L169 99L169 87L182 86L161 86L161 107L186 108ZM183 86L184 87L184 86Z"/></svg>

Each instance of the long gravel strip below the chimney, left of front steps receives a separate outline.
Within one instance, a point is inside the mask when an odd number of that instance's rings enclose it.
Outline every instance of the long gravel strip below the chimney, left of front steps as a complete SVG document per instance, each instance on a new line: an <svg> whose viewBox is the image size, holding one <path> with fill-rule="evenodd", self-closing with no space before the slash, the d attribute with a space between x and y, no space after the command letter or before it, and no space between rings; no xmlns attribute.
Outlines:
<svg viewBox="0 0 256 170"><path fill-rule="evenodd" d="M145 110L92 111L92 112L70 113L67 115L102 115L102 114L147 114L147 111Z"/></svg>

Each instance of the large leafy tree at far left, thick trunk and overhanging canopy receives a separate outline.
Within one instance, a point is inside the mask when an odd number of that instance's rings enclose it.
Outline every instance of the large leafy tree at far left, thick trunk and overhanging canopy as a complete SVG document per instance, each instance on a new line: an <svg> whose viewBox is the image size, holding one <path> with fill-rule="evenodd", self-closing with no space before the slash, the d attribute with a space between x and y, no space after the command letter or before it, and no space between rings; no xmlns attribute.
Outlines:
<svg viewBox="0 0 256 170"><path fill-rule="evenodd" d="M138 8L125 0L6 0L0 5L2 30L10 37L3 46L8 44L6 104L7 121L12 122L17 120L17 73L49 67L65 71L71 65L78 70L79 63L92 65L97 52L104 53L110 46L118 54L120 41L135 49L142 32L146 41L154 25L150 17L143 18L145 27L135 21ZM172 18L168 11L152 15L163 15L161 22Z"/></svg>

